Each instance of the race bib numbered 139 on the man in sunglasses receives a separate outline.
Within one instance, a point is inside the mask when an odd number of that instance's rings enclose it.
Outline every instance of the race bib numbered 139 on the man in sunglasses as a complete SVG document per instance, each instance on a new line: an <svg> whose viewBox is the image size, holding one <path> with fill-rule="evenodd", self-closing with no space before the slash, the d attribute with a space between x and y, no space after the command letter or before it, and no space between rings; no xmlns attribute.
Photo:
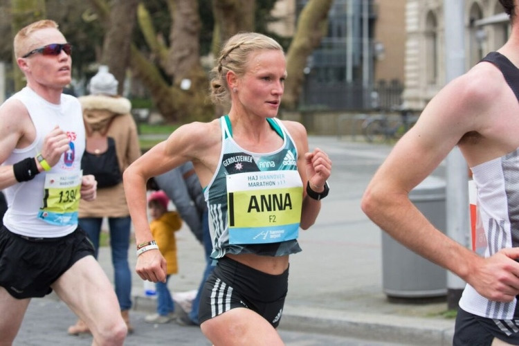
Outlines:
<svg viewBox="0 0 519 346"><path fill-rule="evenodd" d="M78 224L82 171L45 176L43 207L38 217L48 224Z"/></svg>

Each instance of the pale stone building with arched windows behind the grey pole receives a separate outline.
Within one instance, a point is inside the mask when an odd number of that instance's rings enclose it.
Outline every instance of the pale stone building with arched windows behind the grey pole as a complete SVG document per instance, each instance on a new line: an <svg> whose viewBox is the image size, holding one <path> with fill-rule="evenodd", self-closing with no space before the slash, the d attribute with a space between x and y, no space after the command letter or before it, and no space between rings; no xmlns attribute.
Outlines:
<svg viewBox="0 0 519 346"><path fill-rule="evenodd" d="M465 0L464 28L466 71L509 35L498 0ZM446 84L444 0L408 0L406 32L403 103L420 110Z"/></svg>

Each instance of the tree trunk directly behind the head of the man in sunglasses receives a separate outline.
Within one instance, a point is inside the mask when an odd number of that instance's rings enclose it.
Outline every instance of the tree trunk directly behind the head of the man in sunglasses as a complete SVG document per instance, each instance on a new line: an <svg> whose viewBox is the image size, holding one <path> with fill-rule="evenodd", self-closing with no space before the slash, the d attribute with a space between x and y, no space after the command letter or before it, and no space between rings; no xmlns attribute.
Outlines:
<svg viewBox="0 0 519 346"><path fill-rule="evenodd" d="M15 38L16 33L25 26L45 19L46 8L45 0L11 0L11 33L12 38ZM12 44L12 39L11 39ZM24 74L18 69L15 55L12 55L12 66L14 69L15 91L19 91L26 85Z"/></svg>

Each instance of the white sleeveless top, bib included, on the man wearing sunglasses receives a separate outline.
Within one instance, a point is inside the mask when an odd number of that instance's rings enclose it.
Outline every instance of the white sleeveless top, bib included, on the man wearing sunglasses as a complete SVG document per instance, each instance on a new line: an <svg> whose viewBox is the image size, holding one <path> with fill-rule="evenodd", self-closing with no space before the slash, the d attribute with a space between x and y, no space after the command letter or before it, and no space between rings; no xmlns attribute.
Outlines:
<svg viewBox="0 0 519 346"><path fill-rule="evenodd" d="M28 147L14 149L3 165L39 154L45 136L56 125L66 131L71 149L62 154L50 171L4 190L8 210L3 224L12 233L28 237L62 237L73 232L78 224L81 156L85 145L81 104L77 98L65 94L60 104L52 104L28 87L11 98L21 101L28 110L36 138Z"/></svg>

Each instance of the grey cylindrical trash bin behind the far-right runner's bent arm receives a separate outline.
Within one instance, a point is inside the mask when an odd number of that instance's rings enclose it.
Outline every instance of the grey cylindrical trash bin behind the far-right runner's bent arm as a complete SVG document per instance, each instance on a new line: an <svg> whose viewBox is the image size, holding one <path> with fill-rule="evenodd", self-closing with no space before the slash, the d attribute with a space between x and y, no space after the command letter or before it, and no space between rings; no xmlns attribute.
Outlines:
<svg viewBox="0 0 519 346"><path fill-rule="evenodd" d="M439 230L446 227L446 182L428 176L409 198ZM447 294L447 271L382 231L382 283L388 298L438 298Z"/></svg>

